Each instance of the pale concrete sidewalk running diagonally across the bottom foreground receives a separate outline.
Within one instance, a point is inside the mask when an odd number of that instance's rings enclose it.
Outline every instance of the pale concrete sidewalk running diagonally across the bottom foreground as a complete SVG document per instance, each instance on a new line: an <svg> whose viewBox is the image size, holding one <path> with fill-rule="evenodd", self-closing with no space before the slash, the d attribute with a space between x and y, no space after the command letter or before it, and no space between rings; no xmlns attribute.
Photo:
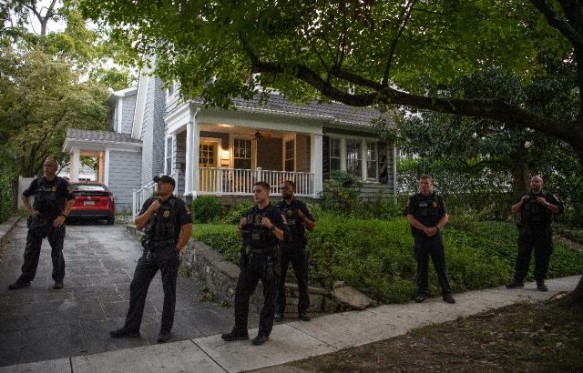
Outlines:
<svg viewBox="0 0 583 373"><path fill-rule="evenodd" d="M0 368L0 372L240 372L259 368L289 371L270 367L394 338L413 328L491 308L545 300L573 290L579 279L580 276L549 279L548 292L539 292L534 283L527 283L522 289L496 287L457 294L455 305L433 298L422 304L386 305L314 318L308 323L284 322L273 328L270 340L260 347L253 346L251 340L225 342L220 335L213 335L7 366ZM250 330L251 338L256 332Z"/></svg>

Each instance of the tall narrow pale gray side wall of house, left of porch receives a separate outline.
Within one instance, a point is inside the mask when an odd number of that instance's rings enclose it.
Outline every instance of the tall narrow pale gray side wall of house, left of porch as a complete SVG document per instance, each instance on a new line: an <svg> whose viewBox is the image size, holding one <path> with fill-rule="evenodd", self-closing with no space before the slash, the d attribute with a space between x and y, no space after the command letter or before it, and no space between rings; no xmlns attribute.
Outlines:
<svg viewBox="0 0 583 373"><path fill-rule="evenodd" d="M148 80L148 95L142 124L141 184L147 185L164 170L164 106L166 89L158 77Z"/></svg>

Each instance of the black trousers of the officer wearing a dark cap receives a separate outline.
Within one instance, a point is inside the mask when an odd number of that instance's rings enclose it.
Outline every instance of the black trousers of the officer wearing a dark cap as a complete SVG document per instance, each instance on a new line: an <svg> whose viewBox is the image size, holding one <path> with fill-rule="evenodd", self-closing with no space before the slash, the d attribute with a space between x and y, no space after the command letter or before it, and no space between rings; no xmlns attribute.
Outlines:
<svg viewBox="0 0 583 373"><path fill-rule="evenodd" d="M162 325L160 331L169 332L174 324L176 307L176 278L179 273L179 254L174 246L156 247L144 251L139 258L134 278L129 285L129 309L126 316L126 328L139 330L146 305L148 287L152 278L160 270L164 288L164 306L162 307Z"/></svg>

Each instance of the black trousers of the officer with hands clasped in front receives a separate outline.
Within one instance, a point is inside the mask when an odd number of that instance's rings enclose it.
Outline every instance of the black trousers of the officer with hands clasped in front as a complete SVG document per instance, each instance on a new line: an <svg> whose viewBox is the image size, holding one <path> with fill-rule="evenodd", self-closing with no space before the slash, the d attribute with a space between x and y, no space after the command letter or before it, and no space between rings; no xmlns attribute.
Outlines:
<svg viewBox="0 0 583 373"><path fill-rule="evenodd" d="M449 287L449 280L447 279L444 240L441 237L441 232L438 231L435 236L428 237L423 232L417 231L415 232L414 240L414 256L417 261L417 293L428 294L429 256L431 256L431 260L434 262L435 272L437 273L437 281L441 287L442 296L445 294L451 294L452 289Z"/></svg>

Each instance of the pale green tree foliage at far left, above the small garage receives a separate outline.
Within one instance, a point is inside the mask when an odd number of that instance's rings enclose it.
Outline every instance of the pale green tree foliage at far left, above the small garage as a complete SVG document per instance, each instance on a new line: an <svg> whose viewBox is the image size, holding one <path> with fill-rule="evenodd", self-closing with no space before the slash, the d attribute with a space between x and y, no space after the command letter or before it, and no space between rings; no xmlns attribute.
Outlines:
<svg viewBox="0 0 583 373"><path fill-rule="evenodd" d="M46 156L68 162L67 128L107 129L108 88L131 77L105 67L118 48L76 0L8 0L0 20L0 170L35 176Z"/></svg>

